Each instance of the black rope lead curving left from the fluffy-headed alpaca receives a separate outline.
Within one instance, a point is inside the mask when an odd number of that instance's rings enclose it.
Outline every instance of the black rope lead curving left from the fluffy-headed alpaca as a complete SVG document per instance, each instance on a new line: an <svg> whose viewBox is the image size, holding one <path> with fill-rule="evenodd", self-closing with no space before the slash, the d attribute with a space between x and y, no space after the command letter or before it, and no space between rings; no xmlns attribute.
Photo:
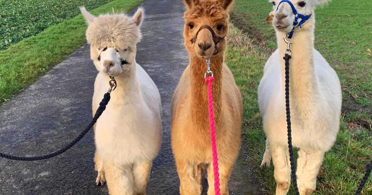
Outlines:
<svg viewBox="0 0 372 195"><path fill-rule="evenodd" d="M80 141L81 138L83 138L84 135L93 127L93 125L97 122L97 119L102 115L103 111L106 109L106 105L109 103L109 101L110 101L110 92L107 92L105 95L103 95L103 99L101 103L99 103L99 107L96 111L96 114L94 114L92 122L90 122L90 124L80 133L79 136L77 136L71 143L67 144L65 147L62 147L60 150L44 155L44 156L35 156L35 157L12 156L12 155L4 154L4 153L0 153L0 156L6 159L11 159L11 160L35 161L35 160L49 159L51 157L54 157L54 156L57 156L57 155L60 155L66 152L68 149L74 146L78 141Z"/></svg>

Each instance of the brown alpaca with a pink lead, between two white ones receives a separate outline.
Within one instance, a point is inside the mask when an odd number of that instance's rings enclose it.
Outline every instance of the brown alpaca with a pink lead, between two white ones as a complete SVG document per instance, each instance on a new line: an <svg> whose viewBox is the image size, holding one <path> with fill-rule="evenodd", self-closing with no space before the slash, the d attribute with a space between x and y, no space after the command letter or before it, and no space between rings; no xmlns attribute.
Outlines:
<svg viewBox="0 0 372 195"><path fill-rule="evenodd" d="M240 147L243 104L230 69L224 63L228 32L228 8L232 0L185 0L185 46L190 64L174 91L171 103L171 142L180 178L181 195L200 195L204 163L209 184L208 195L214 195L211 141L209 137L207 83L204 81L205 60L211 59L214 73L213 100L219 158L221 194L228 195L228 179ZM222 39L214 47L208 25ZM217 54L215 54L218 51ZM215 55L214 55L215 54Z"/></svg>

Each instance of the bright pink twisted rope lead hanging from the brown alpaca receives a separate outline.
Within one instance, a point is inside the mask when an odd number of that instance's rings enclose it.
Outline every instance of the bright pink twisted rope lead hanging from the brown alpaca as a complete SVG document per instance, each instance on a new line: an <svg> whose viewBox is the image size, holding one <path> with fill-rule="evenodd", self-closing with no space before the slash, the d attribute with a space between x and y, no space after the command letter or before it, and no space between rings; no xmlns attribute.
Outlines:
<svg viewBox="0 0 372 195"><path fill-rule="evenodd" d="M213 172L214 172L214 191L215 195L220 195L219 191L219 173L218 173L218 157L217 157L217 144L216 144L216 129L214 127L214 111L213 111L213 97L212 97L212 84L214 77L208 77L205 82L208 82L208 111L209 111L209 128L211 129L211 145L213 157Z"/></svg>

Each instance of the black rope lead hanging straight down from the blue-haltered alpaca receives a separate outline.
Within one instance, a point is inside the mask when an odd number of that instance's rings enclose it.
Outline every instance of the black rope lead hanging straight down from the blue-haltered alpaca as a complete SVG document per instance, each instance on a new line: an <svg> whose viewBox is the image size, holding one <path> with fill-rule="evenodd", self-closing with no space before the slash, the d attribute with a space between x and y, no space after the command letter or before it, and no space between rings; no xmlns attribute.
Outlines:
<svg viewBox="0 0 372 195"><path fill-rule="evenodd" d="M285 54L283 59L285 60L285 110L287 111L287 130L288 130L288 149L289 149L289 161L291 162L291 175L292 175L292 182L295 188L296 195L300 195L298 192L297 186L297 177L296 177L296 169L295 169L295 158L293 155L293 146L292 146L292 130L291 130L291 111L289 110L289 59L292 56Z"/></svg>

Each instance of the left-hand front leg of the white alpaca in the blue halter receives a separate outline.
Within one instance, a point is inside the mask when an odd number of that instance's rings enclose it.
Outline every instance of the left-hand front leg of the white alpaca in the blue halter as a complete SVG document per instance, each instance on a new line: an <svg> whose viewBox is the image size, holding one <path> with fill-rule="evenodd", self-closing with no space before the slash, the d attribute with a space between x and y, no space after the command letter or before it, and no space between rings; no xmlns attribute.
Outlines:
<svg viewBox="0 0 372 195"><path fill-rule="evenodd" d="M271 146L274 178L276 181L276 195L286 195L291 184L291 164L289 162L288 147Z"/></svg>

